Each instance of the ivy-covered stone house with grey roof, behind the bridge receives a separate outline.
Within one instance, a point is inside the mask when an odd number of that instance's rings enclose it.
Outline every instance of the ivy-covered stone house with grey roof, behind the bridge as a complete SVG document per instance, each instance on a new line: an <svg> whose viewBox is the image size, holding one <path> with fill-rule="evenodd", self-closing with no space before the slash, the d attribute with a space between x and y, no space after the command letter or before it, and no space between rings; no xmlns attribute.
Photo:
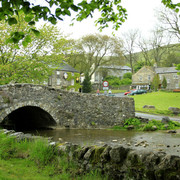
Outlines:
<svg viewBox="0 0 180 180"><path fill-rule="evenodd" d="M63 62L49 77L48 86L77 91L81 87L80 73L66 62Z"/></svg>

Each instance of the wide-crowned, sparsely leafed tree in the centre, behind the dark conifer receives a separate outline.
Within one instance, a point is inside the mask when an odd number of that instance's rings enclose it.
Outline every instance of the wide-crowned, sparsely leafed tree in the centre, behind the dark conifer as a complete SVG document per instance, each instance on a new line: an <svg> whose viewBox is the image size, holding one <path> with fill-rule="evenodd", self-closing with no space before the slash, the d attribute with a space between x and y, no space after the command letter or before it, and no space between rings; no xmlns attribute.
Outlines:
<svg viewBox="0 0 180 180"><path fill-rule="evenodd" d="M75 45L76 66L79 71L92 74L101 65L122 60L122 43L119 39L107 35L86 35ZM69 58L68 61L74 59ZM72 65L72 63L70 63Z"/></svg>

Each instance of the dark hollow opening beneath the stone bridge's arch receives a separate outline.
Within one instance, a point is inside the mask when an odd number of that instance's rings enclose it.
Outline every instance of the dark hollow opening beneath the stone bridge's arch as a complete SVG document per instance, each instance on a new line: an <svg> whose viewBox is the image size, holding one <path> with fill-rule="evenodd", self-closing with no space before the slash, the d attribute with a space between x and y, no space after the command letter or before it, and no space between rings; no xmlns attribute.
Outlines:
<svg viewBox="0 0 180 180"><path fill-rule="evenodd" d="M24 106L8 114L0 124L15 131L49 129L56 121L45 110L36 106Z"/></svg>

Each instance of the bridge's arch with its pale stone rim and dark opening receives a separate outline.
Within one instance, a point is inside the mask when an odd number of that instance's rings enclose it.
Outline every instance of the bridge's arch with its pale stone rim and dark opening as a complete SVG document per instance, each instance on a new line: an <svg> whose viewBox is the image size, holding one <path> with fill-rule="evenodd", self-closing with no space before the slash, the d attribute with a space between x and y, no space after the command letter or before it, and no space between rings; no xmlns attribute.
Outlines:
<svg viewBox="0 0 180 180"><path fill-rule="evenodd" d="M4 110L0 124L16 131L53 127L58 120L51 109L55 107L41 102L15 103Z"/></svg>

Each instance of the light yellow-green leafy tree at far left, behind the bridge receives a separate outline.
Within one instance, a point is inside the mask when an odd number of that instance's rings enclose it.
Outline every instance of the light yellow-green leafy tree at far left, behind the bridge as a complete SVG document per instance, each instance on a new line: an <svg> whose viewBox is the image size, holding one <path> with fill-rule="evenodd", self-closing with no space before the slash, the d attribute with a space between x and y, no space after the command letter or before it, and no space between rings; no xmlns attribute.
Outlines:
<svg viewBox="0 0 180 180"><path fill-rule="evenodd" d="M23 17L23 14L22 16ZM1 21L0 29L0 84L6 84L11 81L26 83L47 82L49 75L64 59L63 44L65 39L59 36L59 30L53 26L44 25L39 29L41 34L29 36L31 42L24 44L7 44L6 39L10 32L17 28L29 30L29 27L23 18L17 25L9 26ZM56 46L56 45L59 46ZM58 58L52 56L58 55ZM51 57L50 57L51 56ZM51 67L51 68L50 68Z"/></svg>

